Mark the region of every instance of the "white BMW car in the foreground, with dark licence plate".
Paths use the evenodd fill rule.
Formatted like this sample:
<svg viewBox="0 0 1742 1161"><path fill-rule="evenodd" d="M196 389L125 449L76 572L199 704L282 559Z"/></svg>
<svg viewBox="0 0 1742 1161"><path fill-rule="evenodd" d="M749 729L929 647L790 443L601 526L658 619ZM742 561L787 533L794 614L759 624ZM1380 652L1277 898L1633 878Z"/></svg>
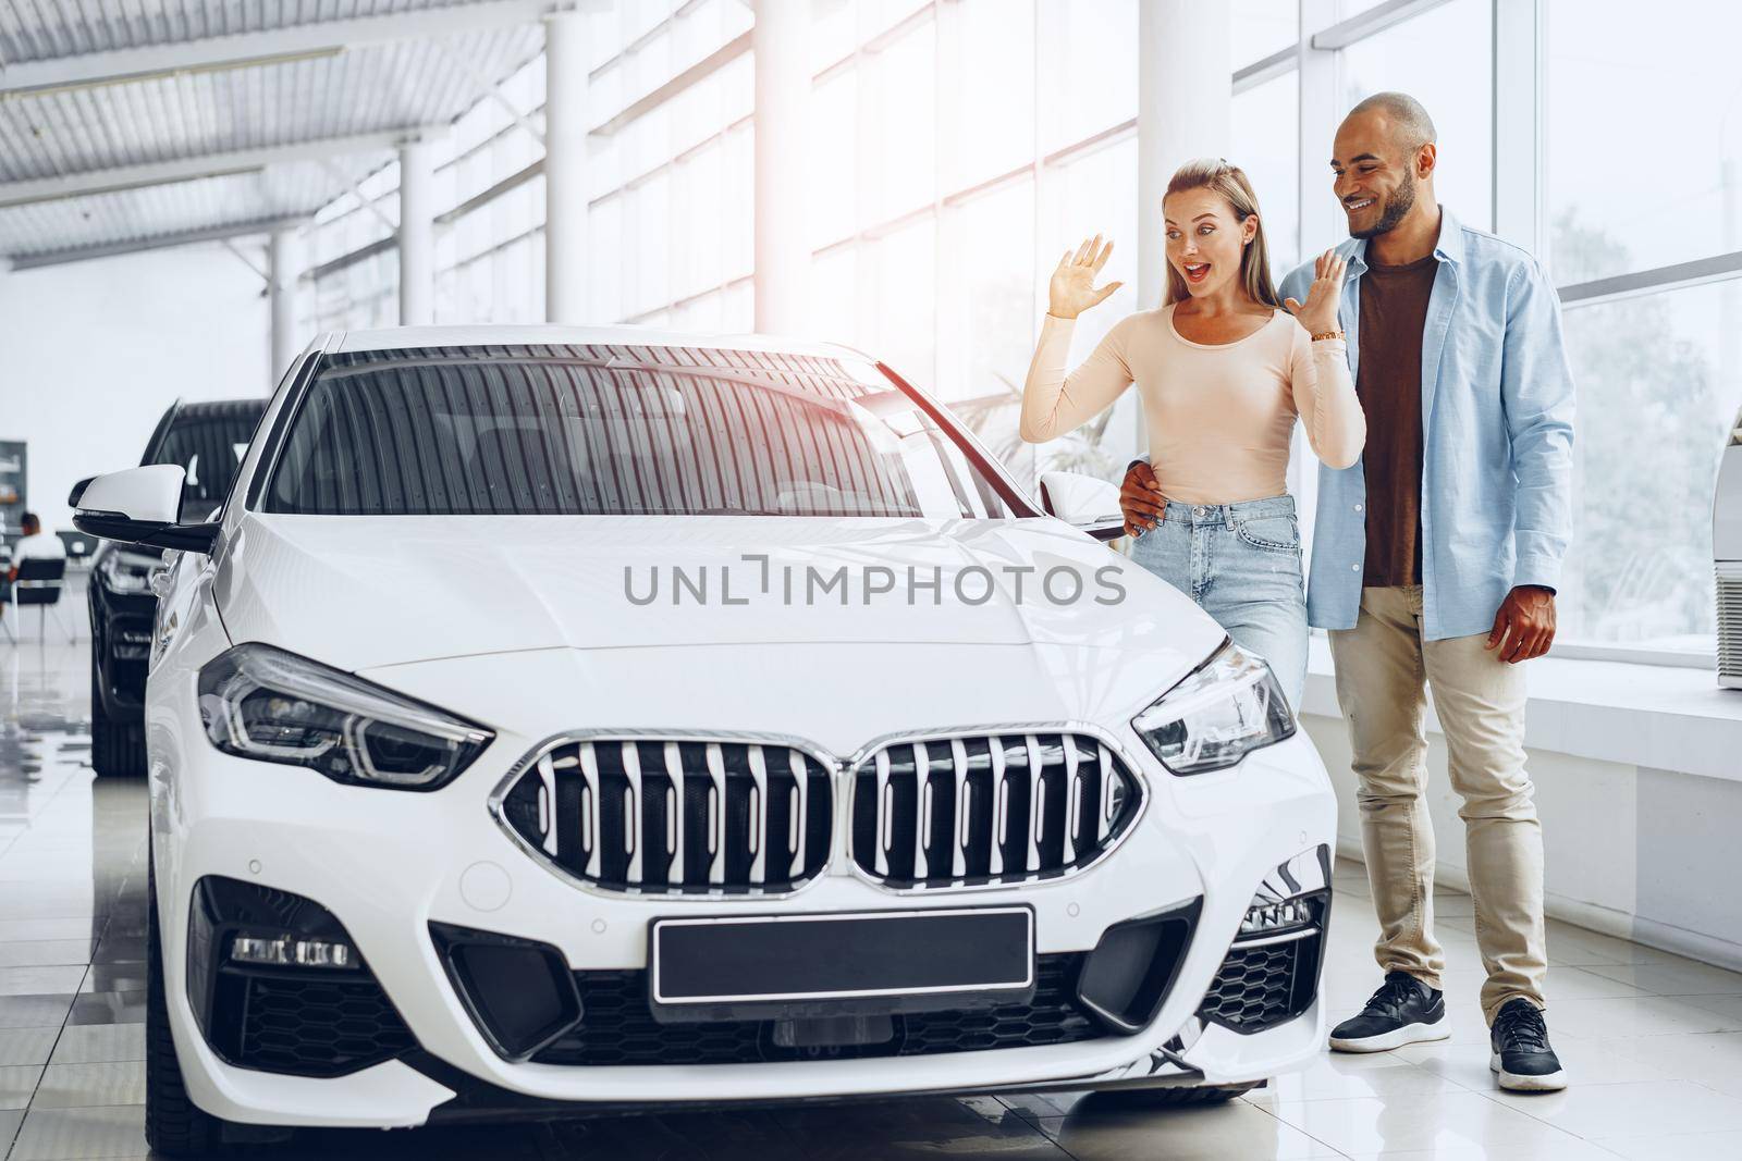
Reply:
<svg viewBox="0 0 1742 1161"><path fill-rule="evenodd" d="M172 548L148 1135L895 1093L1209 1102L1324 1044L1268 667L838 346L327 336Z"/></svg>

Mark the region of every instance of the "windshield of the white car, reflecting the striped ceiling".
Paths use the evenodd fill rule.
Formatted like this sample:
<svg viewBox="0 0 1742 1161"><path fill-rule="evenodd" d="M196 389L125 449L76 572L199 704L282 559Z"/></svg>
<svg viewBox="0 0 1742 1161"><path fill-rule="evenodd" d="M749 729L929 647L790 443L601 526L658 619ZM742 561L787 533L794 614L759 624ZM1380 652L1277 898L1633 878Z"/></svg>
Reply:
<svg viewBox="0 0 1742 1161"><path fill-rule="evenodd" d="M327 357L265 510L1002 517L1000 486L869 364L683 348Z"/></svg>

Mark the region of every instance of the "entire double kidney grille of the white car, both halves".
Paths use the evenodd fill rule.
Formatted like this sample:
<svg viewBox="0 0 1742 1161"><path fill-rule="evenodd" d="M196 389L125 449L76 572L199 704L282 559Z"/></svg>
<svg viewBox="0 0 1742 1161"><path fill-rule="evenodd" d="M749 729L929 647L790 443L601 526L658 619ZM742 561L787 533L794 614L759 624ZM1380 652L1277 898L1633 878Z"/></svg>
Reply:
<svg viewBox="0 0 1742 1161"><path fill-rule="evenodd" d="M1070 876L1143 806L1143 783L1101 738L1012 728L874 743L852 761L796 738L559 738L521 762L491 809L585 886L780 895L829 865L838 780L850 794L841 865L850 856L895 891Z"/></svg>

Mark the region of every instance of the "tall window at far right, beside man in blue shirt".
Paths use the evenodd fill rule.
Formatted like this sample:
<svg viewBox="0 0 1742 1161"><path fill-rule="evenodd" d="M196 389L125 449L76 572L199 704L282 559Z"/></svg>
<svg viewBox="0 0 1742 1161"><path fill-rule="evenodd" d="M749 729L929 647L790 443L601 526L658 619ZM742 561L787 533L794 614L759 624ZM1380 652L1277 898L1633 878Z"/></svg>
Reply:
<svg viewBox="0 0 1742 1161"><path fill-rule="evenodd" d="M1543 242L1580 390L1561 607L1570 641L1707 665L1712 484L1742 386L1742 10L1625 12L1545 3ZM1639 120L1646 91L1678 115Z"/></svg>

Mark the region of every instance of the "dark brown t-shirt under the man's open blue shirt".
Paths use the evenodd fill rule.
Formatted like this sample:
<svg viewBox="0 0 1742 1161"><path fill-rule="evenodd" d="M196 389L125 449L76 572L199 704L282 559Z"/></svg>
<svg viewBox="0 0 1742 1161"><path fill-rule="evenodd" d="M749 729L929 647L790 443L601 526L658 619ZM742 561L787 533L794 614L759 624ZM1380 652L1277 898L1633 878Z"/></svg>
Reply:
<svg viewBox="0 0 1742 1161"><path fill-rule="evenodd" d="M1367 416L1367 560L1362 585L1421 583L1421 332L1439 259L1361 275L1355 393Z"/></svg>

